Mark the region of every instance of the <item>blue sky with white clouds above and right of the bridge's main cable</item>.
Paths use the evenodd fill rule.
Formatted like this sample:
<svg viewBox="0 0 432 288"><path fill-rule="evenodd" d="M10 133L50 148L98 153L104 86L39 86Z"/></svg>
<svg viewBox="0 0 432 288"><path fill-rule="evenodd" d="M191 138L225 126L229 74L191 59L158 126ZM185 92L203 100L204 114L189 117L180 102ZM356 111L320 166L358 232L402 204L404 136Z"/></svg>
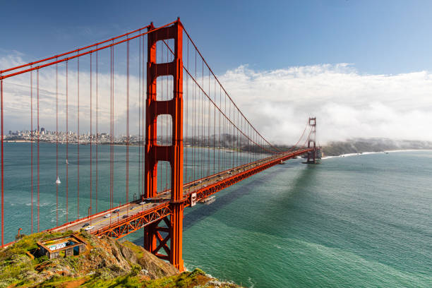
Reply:
<svg viewBox="0 0 432 288"><path fill-rule="evenodd" d="M0 69L180 17L269 140L292 142L308 116L317 116L321 143L432 140L431 8L396 0L3 1Z"/></svg>

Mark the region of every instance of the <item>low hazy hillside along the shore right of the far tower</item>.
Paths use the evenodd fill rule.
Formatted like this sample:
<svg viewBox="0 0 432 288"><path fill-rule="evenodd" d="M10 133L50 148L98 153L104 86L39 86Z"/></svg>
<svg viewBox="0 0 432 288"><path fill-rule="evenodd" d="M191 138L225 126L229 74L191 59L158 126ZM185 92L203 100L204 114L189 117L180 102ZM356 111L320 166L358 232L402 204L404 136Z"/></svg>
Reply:
<svg viewBox="0 0 432 288"><path fill-rule="evenodd" d="M416 140L391 140L388 138L354 138L346 141L330 142L328 145L324 145L323 156L408 149L432 149L432 142Z"/></svg>

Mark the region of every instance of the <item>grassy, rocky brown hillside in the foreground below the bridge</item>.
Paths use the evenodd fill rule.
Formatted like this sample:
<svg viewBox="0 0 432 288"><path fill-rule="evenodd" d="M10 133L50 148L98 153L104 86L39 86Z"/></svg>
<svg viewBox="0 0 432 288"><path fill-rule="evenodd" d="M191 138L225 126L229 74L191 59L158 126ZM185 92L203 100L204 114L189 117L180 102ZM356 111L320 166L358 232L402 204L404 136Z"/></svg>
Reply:
<svg viewBox="0 0 432 288"><path fill-rule="evenodd" d="M0 287L239 287L206 275L202 270L179 273L174 266L145 249L107 236L77 234L85 251L76 256L48 259L37 242L65 233L24 236L0 251Z"/></svg>

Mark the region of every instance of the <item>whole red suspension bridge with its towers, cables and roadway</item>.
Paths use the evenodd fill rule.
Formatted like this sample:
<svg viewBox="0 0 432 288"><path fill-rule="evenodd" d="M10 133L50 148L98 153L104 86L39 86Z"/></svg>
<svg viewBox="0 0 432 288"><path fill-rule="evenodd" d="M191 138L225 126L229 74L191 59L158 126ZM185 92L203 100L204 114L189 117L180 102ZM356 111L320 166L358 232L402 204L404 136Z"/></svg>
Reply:
<svg viewBox="0 0 432 288"><path fill-rule="evenodd" d="M90 222L92 234L119 239L144 228L145 248L179 270L184 208L290 158L315 163L319 150L315 118L290 148L266 140L179 19L4 69L0 81L1 246L5 229L24 225L5 227L5 196L16 193L11 140L28 153L20 198L28 196L29 233ZM6 136L13 125L27 128ZM56 184L47 187L47 174ZM55 217L40 209L47 193Z"/></svg>

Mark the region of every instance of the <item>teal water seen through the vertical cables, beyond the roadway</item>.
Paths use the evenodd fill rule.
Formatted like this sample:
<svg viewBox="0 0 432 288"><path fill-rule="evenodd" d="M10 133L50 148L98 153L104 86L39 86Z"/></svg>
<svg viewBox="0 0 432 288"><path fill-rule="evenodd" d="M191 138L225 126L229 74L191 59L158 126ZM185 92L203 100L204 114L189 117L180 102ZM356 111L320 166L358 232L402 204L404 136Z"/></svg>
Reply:
<svg viewBox="0 0 432 288"><path fill-rule="evenodd" d="M39 173L39 230L56 227L76 220L77 217L88 215L90 208L90 183L92 184L92 211L109 209L110 199L110 161L109 146L99 145L96 169L96 151L92 149L92 179L90 181L90 145L79 145L80 157L78 165L78 145L59 145L58 175L61 184L56 185L56 145L40 143L39 172L37 171L37 144L33 144L33 164L31 167L30 143L4 144L4 243L13 241L22 228L21 233L37 232L37 174ZM258 160L265 155L250 155L248 153L227 153L225 150L210 150L206 148L184 149L184 182L200 179L203 176L223 171L234 165L245 164ZM236 156L236 157L234 157ZM66 158L68 164L66 164ZM143 191L142 164L139 160L142 154L138 146L129 148L129 187L128 200L131 201ZM213 160L216 160L213 162ZM220 159L220 162L217 160ZM203 163L203 164L200 164ZM78 166L79 166L79 196L78 196ZM67 168L67 172L66 172ZM163 191L169 186L169 164L158 164L157 190ZM33 173L33 182L31 178ZM97 172L97 177L96 177ZM66 184L66 174L68 175ZM96 184L97 179L97 184ZM114 146L114 177L113 206L126 203L126 146ZM31 205L31 187L33 186L33 205ZM66 191L67 187L67 191ZM79 198L79 206L78 206ZM97 201L95 200L97 198ZM66 201L67 199L67 201ZM33 206L33 213L31 207ZM33 215L33 225L31 225ZM33 227L33 229L31 229Z"/></svg>

